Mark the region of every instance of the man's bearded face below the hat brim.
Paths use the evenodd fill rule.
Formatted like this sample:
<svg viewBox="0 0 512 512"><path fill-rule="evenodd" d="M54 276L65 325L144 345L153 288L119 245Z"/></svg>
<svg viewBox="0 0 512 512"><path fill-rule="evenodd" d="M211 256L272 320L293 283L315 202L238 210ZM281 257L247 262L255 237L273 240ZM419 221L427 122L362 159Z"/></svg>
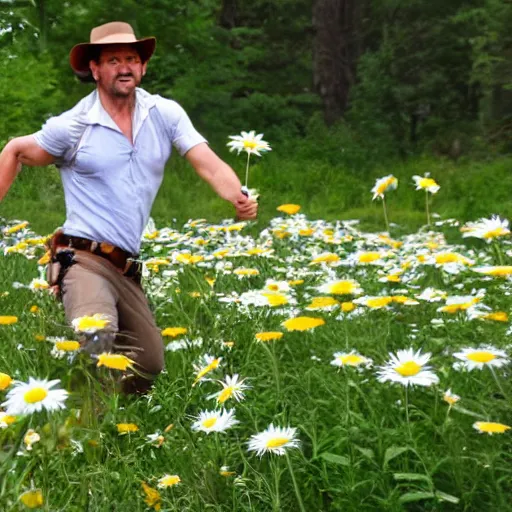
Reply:
<svg viewBox="0 0 512 512"><path fill-rule="evenodd" d="M146 64L129 44L105 46L101 50L99 63L91 60L92 75L107 94L118 98L133 94L146 74Z"/></svg>

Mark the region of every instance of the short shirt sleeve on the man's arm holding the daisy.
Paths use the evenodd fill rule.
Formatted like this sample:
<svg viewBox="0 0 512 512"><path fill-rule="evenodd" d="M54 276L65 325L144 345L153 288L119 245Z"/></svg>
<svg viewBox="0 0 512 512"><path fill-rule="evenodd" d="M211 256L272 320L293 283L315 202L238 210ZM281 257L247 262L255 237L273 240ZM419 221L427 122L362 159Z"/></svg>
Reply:
<svg viewBox="0 0 512 512"><path fill-rule="evenodd" d="M173 146L184 155L197 144L207 140L194 128L192 121L181 105L173 100L161 98L159 111L168 128Z"/></svg>

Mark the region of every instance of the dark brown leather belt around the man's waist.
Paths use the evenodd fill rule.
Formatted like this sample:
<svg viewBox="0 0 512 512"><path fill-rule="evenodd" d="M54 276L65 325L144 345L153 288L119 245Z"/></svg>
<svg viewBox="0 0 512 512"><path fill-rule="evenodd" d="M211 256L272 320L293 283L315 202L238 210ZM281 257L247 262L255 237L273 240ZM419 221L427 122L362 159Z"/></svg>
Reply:
<svg viewBox="0 0 512 512"><path fill-rule="evenodd" d="M50 244L52 255L56 254L57 249L61 249L63 247L91 252L92 254L96 254L97 256L107 259L117 267L122 274L127 277L131 277L140 283L142 263L136 261L138 255L125 251L120 247L116 247L106 242L95 242L88 238L66 235L62 231L57 231L53 235Z"/></svg>

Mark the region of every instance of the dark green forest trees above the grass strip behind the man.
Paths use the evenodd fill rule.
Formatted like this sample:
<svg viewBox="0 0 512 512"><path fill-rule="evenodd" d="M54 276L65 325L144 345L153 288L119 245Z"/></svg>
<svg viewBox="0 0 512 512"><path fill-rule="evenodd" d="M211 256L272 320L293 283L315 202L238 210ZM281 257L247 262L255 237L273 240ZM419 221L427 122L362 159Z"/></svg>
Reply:
<svg viewBox="0 0 512 512"><path fill-rule="evenodd" d="M211 141L348 165L512 146L510 0L0 0L0 141L89 91L69 51L115 19L157 37L143 86Z"/></svg>

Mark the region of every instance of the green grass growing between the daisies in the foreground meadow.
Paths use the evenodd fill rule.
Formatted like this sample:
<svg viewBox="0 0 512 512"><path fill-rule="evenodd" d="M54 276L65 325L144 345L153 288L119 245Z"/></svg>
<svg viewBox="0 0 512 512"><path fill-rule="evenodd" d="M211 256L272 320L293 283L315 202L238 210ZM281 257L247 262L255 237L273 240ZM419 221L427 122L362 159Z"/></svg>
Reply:
<svg viewBox="0 0 512 512"><path fill-rule="evenodd" d="M266 179L270 180L268 174ZM172 187L166 185L164 192L170 191ZM160 196L160 205L163 200ZM196 235L206 236L199 230ZM364 236L356 238L362 243ZM458 235L456 242L460 241ZM205 251L213 252L223 242L222 237L211 237ZM153 247L146 246L146 257L153 254ZM186 247L199 251L197 245L185 242L158 254ZM487 246L479 247L487 253L479 260L491 261ZM0 314L19 317L17 324L0 326L0 372L20 380L59 378L71 391L65 411L36 414L0 430L0 509L21 510L18 496L33 484L43 491L43 509L52 512L146 510L141 481L155 487L157 479L169 473L179 475L181 484L161 490L165 511L299 510L297 491L307 511L512 510L510 432L487 436L472 428L479 419L512 424L510 365L497 370L498 382L488 368L463 373L451 367L452 353L461 347L490 343L506 349L508 324L469 322L460 313L445 316L444 326L436 328L431 320L441 316L436 312L439 304L429 303L396 305L343 320L336 320L337 312L305 311L310 297L318 295L314 286L325 279L324 273L324 277L306 275L305 283L296 288L296 300L301 311L322 317L326 324L309 332L285 332L281 340L261 344L254 340L255 333L284 331L281 322L287 313L223 305L210 293L204 276L216 275L215 292L242 293L261 289L267 278L282 277L276 267L288 267L288 278L298 277L308 268L313 252L334 250L344 257L355 245L289 239L275 240L274 248L275 259L229 260L236 267L257 268L258 276L239 279L199 266L185 267L176 278L167 279L169 287L160 298L151 293L160 284L154 279L146 284L159 327L184 326L190 339L203 339L201 347L166 352L166 372L149 400L105 392L108 370L96 371L85 358L72 364L52 358L52 344L37 341L35 335L75 336L65 326L62 307L44 293L12 287L13 281L28 284L37 276L34 259L0 256ZM397 256L404 258L408 249L401 251ZM285 260L289 257L292 260ZM332 271L358 279L369 294L401 293L398 290L404 287L412 294L427 286L464 294L483 287L487 290L484 302L493 309L510 311L512 306L508 281L486 281L470 270L453 276L418 267L408 271L410 282L398 285L380 283L376 268L342 266ZM201 297L189 295L196 291ZM39 313L30 313L31 305L38 305ZM224 341L235 344L228 348ZM330 365L336 351L357 349L380 365L388 352L409 346L432 353L430 364L440 378L438 387L415 387L406 395L398 384L378 382L374 370L337 371ZM216 382L192 386L193 363L205 353L223 357L215 378L239 373L251 385L246 400L228 402L228 407L235 407L240 424L218 435L191 430L199 411L214 407L207 396L220 390ZM462 396L451 410L440 393L448 388ZM87 409L92 410L89 416ZM120 422L136 423L140 430L119 436L116 423ZM163 432L171 423L174 428L164 434L160 448L146 442L146 435ZM247 452L250 436L270 423L297 428L300 449L288 452L296 487L285 457L259 459ZM11 452L16 452L27 428L39 432L41 441L31 452L15 456ZM83 447L81 453L75 453L77 442ZM236 476L220 476L223 465L230 466Z"/></svg>

